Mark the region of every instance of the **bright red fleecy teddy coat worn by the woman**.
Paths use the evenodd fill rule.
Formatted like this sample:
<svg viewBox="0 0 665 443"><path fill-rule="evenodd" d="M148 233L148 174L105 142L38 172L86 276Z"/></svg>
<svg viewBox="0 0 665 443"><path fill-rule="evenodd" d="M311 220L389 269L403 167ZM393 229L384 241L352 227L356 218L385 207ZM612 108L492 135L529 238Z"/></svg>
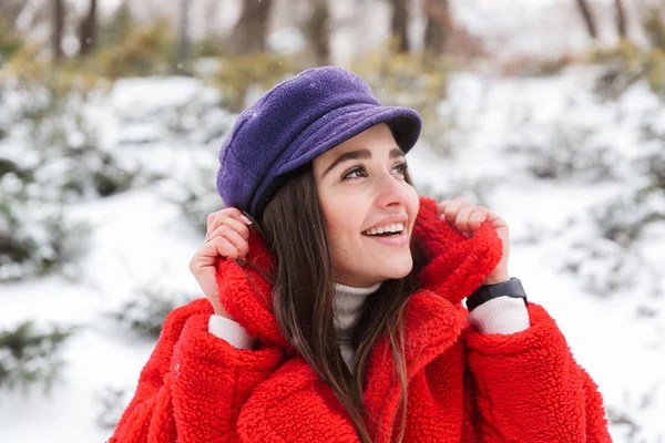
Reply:
<svg viewBox="0 0 665 443"><path fill-rule="evenodd" d="M543 308L530 303L531 327L510 336L468 324L461 300L497 265L501 243L485 225L463 237L436 209L421 198L413 233L431 261L406 310L405 441L610 442L601 394ZM249 254L260 266L272 262L257 236ZM260 347L238 350L208 333L205 299L175 309L110 442L358 442L331 389L289 353L262 296L270 293L268 282L245 270L221 260L219 296ZM380 341L365 391L367 412L378 419L370 423L377 442L396 432L400 384L391 364Z"/></svg>

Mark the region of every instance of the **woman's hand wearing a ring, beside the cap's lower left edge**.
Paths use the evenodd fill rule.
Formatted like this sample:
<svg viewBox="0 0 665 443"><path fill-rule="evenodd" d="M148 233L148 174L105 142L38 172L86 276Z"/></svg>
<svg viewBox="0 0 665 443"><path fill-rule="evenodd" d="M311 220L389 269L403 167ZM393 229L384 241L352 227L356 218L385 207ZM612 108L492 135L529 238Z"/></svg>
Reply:
<svg viewBox="0 0 665 443"><path fill-rule="evenodd" d="M219 288L215 280L217 257L244 259L249 251L252 222L238 209L228 207L207 217L206 240L190 260L190 270L217 316L227 317L219 301Z"/></svg>

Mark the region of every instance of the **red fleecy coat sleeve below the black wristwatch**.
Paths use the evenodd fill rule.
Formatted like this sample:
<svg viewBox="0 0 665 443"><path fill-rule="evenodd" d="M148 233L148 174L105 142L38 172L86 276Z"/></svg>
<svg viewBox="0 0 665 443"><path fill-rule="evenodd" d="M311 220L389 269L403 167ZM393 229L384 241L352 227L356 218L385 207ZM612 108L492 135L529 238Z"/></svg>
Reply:
<svg viewBox="0 0 665 443"><path fill-rule="evenodd" d="M545 310L513 334L464 330L482 442L611 442L603 400Z"/></svg>

